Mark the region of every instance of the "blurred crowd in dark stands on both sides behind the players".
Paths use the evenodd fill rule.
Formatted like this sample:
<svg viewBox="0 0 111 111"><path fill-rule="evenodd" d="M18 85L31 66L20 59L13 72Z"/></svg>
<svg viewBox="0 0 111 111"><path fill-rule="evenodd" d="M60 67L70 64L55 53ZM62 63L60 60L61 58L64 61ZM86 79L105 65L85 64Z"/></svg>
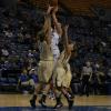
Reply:
<svg viewBox="0 0 111 111"><path fill-rule="evenodd" d="M37 32L42 26L42 17L37 8L24 4L18 6L17 13L0 8L0 78L4 71L19 70L20 90L23 90L21 85L31 85L33 90L38 83ZM111 41L107 34L83 32L75 27L69 30L71 39L77 42L77 51L70 60L73 93L107 94L107 84L111 82ZM90 74L91 78L84 78Z"/></svg>

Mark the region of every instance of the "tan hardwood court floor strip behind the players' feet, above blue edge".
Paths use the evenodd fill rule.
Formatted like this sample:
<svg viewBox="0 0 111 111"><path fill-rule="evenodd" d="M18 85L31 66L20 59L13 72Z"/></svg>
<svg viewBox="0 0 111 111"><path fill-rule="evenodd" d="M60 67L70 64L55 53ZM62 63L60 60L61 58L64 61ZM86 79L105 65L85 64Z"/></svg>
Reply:
<svg viewBox="0 0 111 111"><path fill-rule="evenodd" d="M30 107L30 94L0 94L0 107ZM65 99L62 99L64 105L67 105ZM48 105L54 105L54 101L48 99ZM38 105L38 102L37 102ZM111 95L90 95L74 98L74 105L107 105L111 107Z"/></svg>

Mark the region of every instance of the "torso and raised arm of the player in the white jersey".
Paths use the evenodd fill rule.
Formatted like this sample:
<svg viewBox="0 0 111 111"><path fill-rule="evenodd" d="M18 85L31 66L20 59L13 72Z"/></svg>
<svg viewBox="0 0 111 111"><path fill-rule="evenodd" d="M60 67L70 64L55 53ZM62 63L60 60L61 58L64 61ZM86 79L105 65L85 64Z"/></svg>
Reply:
<svg viewBox="0 0 111 111"><path fill-rule="evenodd" d="M52 10L53 24L51 29L51 37L52 37L51 46L52 46L54 62L58 60L60 56L60 50L59 50L58 44L62 36L61 23L58 21L57 16L56 16L57 12L58 12L58 7L53 8Z"/></svg>

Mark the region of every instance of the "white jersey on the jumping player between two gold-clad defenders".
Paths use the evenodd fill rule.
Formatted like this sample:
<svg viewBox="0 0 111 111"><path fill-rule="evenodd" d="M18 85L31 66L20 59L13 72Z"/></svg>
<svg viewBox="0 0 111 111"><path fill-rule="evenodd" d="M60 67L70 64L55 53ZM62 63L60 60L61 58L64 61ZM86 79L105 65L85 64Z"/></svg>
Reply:
<svg viewBox="0 0 111 111"><path fill-rule="evenodd" d="M57 61L57 59L60 56L60 50L58 47L60 37L56 31L52 31L51 37L52 37L51 40L52 53L53 53L54 61Z"/></svg>

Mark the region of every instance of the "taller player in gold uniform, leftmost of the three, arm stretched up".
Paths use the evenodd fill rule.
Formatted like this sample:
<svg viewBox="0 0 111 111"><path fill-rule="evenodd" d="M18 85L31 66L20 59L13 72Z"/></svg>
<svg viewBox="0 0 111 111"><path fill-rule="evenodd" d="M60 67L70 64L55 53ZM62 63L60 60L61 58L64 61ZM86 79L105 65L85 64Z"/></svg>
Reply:
<svg viewBox="0 0 111 111"><path fill-rule="evenodd" d="M52 77L52 70L53 70L53 54L51 50L51 20L50 20L50 11L52 10L52 7L49 7L46 21L43 26L43 31L41 31L40 34L40 62L38 68L38 78L39 83L37 84L34 94L32 99L30 100L30 104L32 108L36 108L36 100L37 94L42 90L42 98L40 99L39 103L41 103L42 107L46 107L44 100L47 98L47 93L50 89L50 79ZM42 87L44 87L42 89Z"/></svg>

